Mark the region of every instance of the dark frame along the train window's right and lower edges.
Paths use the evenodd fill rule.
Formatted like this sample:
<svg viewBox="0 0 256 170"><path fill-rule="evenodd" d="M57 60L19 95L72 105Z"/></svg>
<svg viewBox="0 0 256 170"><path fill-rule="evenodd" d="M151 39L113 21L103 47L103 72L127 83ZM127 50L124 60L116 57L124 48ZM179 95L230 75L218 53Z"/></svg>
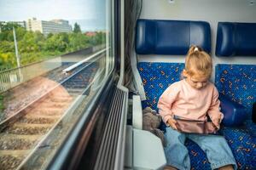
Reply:
<svg viewBox="0 0 256 170"><path fill-rule="evenodd" d="M88 164L92 166L90 168L93 168L93 163L88 161L95 159L97 150L90 150L90 147L87 146L91 143L95 144L95 141L93 141L96 138L95 133L97 133L95 128L96 126L103 127L104 123L101 120L108 116L109 104L113 97L115 84L118 82L116 75L119 72L120 63L120 3L118 0L109 0L109 2L112 3L113 9L111 11L113 20L111 31L113 31L113 35L110 37L114 47L113 69L109 72L105 84L98 90L95 98L84 112L84 115L88 116L81 118L77 125L73 127L71 133L67 135L67 140L61 144L46 169L80 169L81 167L88 168ZM101 135L99 137L101 138ZM98 144L100 144L100 139L95 145ZM88 150L90 151L88 152ZM91 156L87 162L81 161L84 156L87 156L84 154L85 152Z"/></svg>

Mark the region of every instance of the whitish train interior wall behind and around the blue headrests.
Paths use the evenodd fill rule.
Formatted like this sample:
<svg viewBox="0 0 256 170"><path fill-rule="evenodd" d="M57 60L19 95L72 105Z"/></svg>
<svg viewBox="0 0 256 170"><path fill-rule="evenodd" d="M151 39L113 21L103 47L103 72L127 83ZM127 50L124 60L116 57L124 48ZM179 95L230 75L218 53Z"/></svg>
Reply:
<svg viewBox="0 0 256 170"><path fill-rule="evenodd" d="M217 64L256 64L250 56L216 57L216 35L218 22L256 22L255 0L146 0L143 1L140 19L151 20L203 20L211 26L213 68ZM172 40L170 40L172 41ZM139 62L183 63L185 56L138 55ZM214 82L215 71L212 72Z"/></svg>

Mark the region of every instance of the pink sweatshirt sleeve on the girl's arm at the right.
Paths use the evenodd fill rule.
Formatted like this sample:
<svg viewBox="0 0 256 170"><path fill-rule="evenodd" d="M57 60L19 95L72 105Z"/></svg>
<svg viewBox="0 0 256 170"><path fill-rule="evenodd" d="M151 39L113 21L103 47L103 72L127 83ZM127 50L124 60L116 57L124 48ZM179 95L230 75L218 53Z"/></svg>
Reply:
<svg viewBox="0 0 256 170"><path fill-rule="evenodd" d="M211 105L208 112L208 115L210 116L212 122L216 127L219 128L219 123L222 121L224 115L222 112L220 112L220 101L218 99L218 90L216 87L213 88L213 93L212 93L212 101Z"/></svg>

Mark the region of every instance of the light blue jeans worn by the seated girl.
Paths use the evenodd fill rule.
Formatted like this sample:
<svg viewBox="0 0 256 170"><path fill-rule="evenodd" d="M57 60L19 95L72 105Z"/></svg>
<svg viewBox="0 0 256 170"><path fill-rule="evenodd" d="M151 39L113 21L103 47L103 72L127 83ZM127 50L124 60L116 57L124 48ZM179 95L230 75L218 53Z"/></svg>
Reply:
<svg viewBox="0 0 256 170"><path fill-rule="evenodd" d="M193 140L204 150L212 169L226 165L233 165L234 169L237 169L236 160L223 136L179 133L172 127L166 127L165 133L165 153L168 165L180 170L190 170L189 151L184 145L186 138Z"/></svg>

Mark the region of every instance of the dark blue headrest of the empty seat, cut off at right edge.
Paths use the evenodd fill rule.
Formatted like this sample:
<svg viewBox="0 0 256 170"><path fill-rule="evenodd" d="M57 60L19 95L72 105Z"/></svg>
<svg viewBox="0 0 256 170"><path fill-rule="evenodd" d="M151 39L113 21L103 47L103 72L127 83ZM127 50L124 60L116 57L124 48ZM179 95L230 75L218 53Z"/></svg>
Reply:
<svg viewBox="0 0 256 170"><path fill-rule="evenodd" d="M217 56L256 55L256 23L219 22Z"/></svg>

